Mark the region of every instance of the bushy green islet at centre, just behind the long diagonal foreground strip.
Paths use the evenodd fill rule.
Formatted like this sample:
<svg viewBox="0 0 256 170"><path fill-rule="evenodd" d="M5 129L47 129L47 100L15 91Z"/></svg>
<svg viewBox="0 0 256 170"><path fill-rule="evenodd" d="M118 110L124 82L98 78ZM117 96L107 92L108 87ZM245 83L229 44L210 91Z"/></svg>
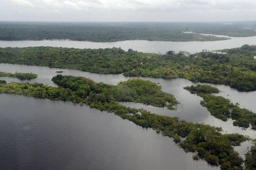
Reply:
<svg viewBox="0 0 256 170"><path fill-rule="evenodd" d="M96 84L90 79L74 76L57 75L52 80L61 87L75 90L82 98L90 99L92 94L97 94L101 102L139 102L169 109L178 104L173 95L161 91L160 85L148 80L129 79L117 86Z"/></svg>

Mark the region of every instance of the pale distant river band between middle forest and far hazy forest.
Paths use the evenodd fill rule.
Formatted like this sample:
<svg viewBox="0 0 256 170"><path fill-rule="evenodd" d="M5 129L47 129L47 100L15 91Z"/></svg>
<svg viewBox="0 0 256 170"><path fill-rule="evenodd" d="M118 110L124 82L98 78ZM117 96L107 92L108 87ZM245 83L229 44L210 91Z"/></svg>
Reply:
<svg viewBox="0 0 256 170"><path fill-rule="evenodd" d="M228 37L219 36L218 37ZM255 45L256 36L251 37L229 37L229 40L223 41L144 41L128 40L118 42L90 42L90 41L67 41L67 40L42 40L42 41L0 41L1 47L33 47L33 46L51 46L51 47L69 47L69 48L112 48L121 47L123 50L132 48L140 52L165 53L169 50L175 52L187 51L190 53L201 52L202 50L221 50L224 48L241 47L244 44Z"/></svg>

